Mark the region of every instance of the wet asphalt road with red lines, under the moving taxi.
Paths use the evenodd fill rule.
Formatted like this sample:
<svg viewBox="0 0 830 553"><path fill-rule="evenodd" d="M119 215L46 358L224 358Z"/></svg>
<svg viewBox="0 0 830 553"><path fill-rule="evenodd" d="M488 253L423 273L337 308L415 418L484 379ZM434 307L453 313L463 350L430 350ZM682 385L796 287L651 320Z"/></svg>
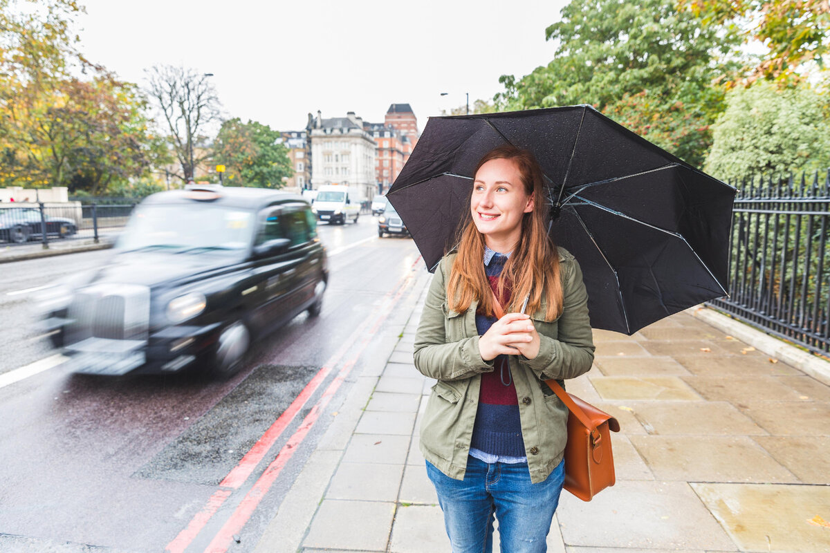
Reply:
<svg viewBox="0 0 830 553"><path fill-rule="evenodd" d="M378 239L372 217L319 229L323 313L257 343L232 381L51 368L0 387L0 551L253 550L362 367L388 357L426 275L412 240ZM105 257L4 265L0 317L29 308L31 294L9 292ZM30 345L0 372L54 354L18 326Z"/></svg>

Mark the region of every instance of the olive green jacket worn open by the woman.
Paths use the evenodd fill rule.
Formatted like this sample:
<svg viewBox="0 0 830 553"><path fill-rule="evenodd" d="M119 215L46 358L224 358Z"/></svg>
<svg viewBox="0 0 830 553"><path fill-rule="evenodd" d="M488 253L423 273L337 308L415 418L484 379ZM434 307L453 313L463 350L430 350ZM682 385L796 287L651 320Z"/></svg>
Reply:
<svg viewBox="0 0 830 553"><path fill-rule="evenodd" d="M464 313L447 308L447 279L455 254L438 264L415 336L415 366L437 380L421 423L424 458L450 478L466 471L472 427L476 420L481 373L494 369L481 359L476 331L477 303ZM562 315L546 320L542 305L531 319L540 335L535 359L510 356L510 371L519 400L522 436L530 480L543 482L562 460L567 441L568 410L541 380L564 381L587 372L593 362L593 339L588 321L588 293L579 264L559 248L559 271L564 290Z"/></svg>

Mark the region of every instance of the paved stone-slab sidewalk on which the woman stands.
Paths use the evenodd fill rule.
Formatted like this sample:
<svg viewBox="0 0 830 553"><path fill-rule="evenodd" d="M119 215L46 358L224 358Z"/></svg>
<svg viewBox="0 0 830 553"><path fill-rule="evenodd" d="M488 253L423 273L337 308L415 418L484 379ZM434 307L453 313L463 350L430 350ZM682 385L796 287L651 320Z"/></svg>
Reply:
<svg viewBox="0 0 830 553"><path fill-rule="evenodd" d="M417 448L433 383L412 361L422 299L257 553L450 551ZM549 551L830 551L830 387L689 313L594 339L568 388L620 421L617 484L588 503L563 492Z"/></svg>

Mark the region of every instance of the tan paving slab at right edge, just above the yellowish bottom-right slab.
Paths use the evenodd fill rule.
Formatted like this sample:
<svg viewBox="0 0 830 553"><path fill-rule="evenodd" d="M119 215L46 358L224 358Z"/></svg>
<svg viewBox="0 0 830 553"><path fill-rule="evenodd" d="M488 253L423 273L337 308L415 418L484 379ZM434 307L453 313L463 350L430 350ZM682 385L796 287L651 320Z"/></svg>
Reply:
<svg viewBox="0 0 830 553"><path fill-rule="evenodd" d="M758 436L753 439L801 482L830 486L830 438L827 436Z"/></svg>

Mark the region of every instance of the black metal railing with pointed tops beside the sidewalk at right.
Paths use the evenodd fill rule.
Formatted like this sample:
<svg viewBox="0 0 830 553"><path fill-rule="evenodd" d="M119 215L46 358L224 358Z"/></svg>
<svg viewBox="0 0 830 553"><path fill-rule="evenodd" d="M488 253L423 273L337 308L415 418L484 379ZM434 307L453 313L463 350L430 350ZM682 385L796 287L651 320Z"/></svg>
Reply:
<svg viewBox="0 0 830 553"><path fill-rule="evenodd" d="M738 188L730 297L711 302L812 352L830 352L830 172L760 178Z"/></svg>

